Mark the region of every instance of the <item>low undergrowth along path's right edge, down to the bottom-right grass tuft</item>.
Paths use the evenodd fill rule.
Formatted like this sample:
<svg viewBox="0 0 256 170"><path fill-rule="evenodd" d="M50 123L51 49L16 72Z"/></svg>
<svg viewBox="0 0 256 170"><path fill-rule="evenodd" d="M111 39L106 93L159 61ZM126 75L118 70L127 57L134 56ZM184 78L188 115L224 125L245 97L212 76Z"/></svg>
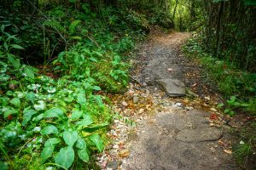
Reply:
<svg viewBox="0 0 256 170"><path fill-rule="evenodd" d="M236 133L240 142L233 148L233 156L241 167L250 167L253 165L256 152L256 74L242 71L227 60L220 60L207 54L199 42L196 37L192 37L183 47L183 52L203 65L209 77L218 85L219 92L226 99L224 104L218 106L229 116L246 114L252 117Z"/></svg>

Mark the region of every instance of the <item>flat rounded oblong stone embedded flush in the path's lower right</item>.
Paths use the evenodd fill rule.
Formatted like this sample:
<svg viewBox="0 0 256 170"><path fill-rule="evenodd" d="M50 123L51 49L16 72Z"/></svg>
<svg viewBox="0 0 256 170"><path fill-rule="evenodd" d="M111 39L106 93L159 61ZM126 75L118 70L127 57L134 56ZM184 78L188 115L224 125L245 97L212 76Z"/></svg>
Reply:
<svg viewBox="0 0 256 170"><path fill-rule="evenodd" d="M177 133L175 139L183 142L214 141L220 139L222 134L216 127L183 129Z"/></svg>

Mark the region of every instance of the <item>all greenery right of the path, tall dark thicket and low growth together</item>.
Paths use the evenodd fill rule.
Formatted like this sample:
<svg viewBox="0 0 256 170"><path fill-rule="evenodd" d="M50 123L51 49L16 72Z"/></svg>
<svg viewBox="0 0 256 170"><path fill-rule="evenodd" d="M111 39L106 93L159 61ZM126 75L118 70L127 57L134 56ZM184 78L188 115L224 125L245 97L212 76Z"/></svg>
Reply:
<svg viewBox="0 0 256 170"><path fill-rule="evenodd" d="M256 2L250 0L190 1L194 36L185 54L204 65L226 100L219 107L227 116L243 115L243 127L233 156L243 168L255 168L256 150ZM238 121L239 118L237 118ZM254 154L253 154L254 153Z"/></svg>

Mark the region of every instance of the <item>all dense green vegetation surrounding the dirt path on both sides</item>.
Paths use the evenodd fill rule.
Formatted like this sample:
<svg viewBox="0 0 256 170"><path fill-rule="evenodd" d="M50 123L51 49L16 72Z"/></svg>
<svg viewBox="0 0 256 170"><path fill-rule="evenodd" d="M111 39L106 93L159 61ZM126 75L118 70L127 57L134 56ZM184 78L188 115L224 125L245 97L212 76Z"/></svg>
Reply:
<svg viewBox="0 0 256 170"><path fill-rule="evenodd" d="M0 0L0 168L93 168L131 50L150 25L193 31L184 51L207 65L230 116L256 113L253 0ZM250 124L255 129L255 122ZM252 130L250 130L251 132ZM255 134L236 145L241 163Z"/></svg>

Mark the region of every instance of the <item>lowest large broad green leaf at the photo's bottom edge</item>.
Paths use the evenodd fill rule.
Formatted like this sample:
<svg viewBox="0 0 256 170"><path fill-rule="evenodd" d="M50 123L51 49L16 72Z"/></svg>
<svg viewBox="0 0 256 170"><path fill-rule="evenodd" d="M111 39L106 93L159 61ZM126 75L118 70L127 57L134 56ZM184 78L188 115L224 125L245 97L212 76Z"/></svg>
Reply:
<svg viewBox="0 0 256 170"><path fill-rule="evenodd" d="M74 160L74 151L71 146L61 148L60 152L55 156L55 163L62 167L71 167Z"/></svg>

